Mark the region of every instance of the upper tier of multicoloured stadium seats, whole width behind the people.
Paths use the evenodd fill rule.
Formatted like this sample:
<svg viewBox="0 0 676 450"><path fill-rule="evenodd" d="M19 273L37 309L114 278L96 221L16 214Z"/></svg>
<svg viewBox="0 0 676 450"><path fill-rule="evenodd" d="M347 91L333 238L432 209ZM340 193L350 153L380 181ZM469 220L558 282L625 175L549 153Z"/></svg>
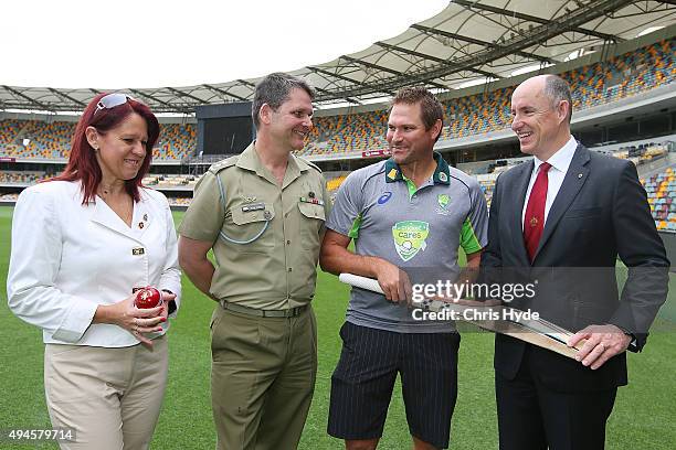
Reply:
<svg viewBox="0 0 676 450"><path fill-rule="evenodd" d="M611 57L561 74L573 93L574 110L611 104L619 99L670 84L676 40ZM446 126L442 139L458 139L507 128L511 117L514 87L443 101ZM323 116L315 119L305 157L359 154L387 149L387 109L371 113ZM6 119L0 121L0 157L17 159L67 158L75 124ZM152 150L159 161L182 160L197 148L193 124L162 124L160 141Z"/></svg>

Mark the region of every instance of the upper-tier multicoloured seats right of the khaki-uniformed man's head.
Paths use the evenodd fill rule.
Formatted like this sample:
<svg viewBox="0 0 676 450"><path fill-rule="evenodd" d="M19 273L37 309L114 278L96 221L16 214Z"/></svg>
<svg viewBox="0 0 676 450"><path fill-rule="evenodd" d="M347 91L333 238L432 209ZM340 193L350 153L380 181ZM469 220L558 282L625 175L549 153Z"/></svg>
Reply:
<svg viewBox="0 0 676 450"><path fill-rule="evenodd" d="M561 74L571 85L573 110L610 104L674 82L676 40L670 39L602 63ZM458 139L508 128L514 87L444 100L441 139ZM387 149L387 110L325 116L315 121L303 156Z"/></svg>

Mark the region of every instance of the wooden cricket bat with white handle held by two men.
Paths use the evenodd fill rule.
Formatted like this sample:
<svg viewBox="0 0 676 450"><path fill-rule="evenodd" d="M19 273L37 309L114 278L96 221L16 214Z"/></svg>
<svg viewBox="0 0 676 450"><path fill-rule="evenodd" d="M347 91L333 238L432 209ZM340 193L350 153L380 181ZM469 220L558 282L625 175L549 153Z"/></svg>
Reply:
<svg viewBox="0 0 676 450"><path fill-rule="evenodd" d="M338 279L356 288L383 293L378 280L372 278L340 274ZM574 333L545 319L536 319L526 311L505 306L485 306L480 301L473 300L430 299L414 303L414 307L436 312L437 315L443 313L445 317L452 317L452 320L461 320L484 330L506 334L570 358L574 358L578 350L584 344L584 341L580 341L575 347L570 347L566 342Z"/></svg>

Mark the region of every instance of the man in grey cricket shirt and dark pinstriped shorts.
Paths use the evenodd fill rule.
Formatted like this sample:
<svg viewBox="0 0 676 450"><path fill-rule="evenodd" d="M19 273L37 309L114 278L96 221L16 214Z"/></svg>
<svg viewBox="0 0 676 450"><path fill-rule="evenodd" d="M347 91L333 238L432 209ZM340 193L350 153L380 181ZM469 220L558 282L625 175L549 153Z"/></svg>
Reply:
<svg viewBox="0 0 676 450"><path fill-rule="evenodd" d="M340 330L328 432L348 449L378 446L398 373L414 448L448 446L460 335L447 322L414 320L404 270L457 277L461 246L467 265L478 267L487 207L476 180L433 151L442 126L442 106L429 90L400 90L388 120L392 157L352 172L327 221L321 267L377 278L384 291L353 288Z"/></svg>

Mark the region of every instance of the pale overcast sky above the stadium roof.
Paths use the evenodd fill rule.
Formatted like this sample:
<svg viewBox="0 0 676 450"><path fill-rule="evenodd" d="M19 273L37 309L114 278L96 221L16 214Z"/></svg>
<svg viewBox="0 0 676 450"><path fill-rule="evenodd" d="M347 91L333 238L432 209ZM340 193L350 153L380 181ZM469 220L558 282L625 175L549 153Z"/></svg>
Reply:
<svg viewBox="0 0 676 450"><path fill-rule="evenodd" d="M12 0L0 84L161 87L326 63L393 38L447 0Z"/></svg>

